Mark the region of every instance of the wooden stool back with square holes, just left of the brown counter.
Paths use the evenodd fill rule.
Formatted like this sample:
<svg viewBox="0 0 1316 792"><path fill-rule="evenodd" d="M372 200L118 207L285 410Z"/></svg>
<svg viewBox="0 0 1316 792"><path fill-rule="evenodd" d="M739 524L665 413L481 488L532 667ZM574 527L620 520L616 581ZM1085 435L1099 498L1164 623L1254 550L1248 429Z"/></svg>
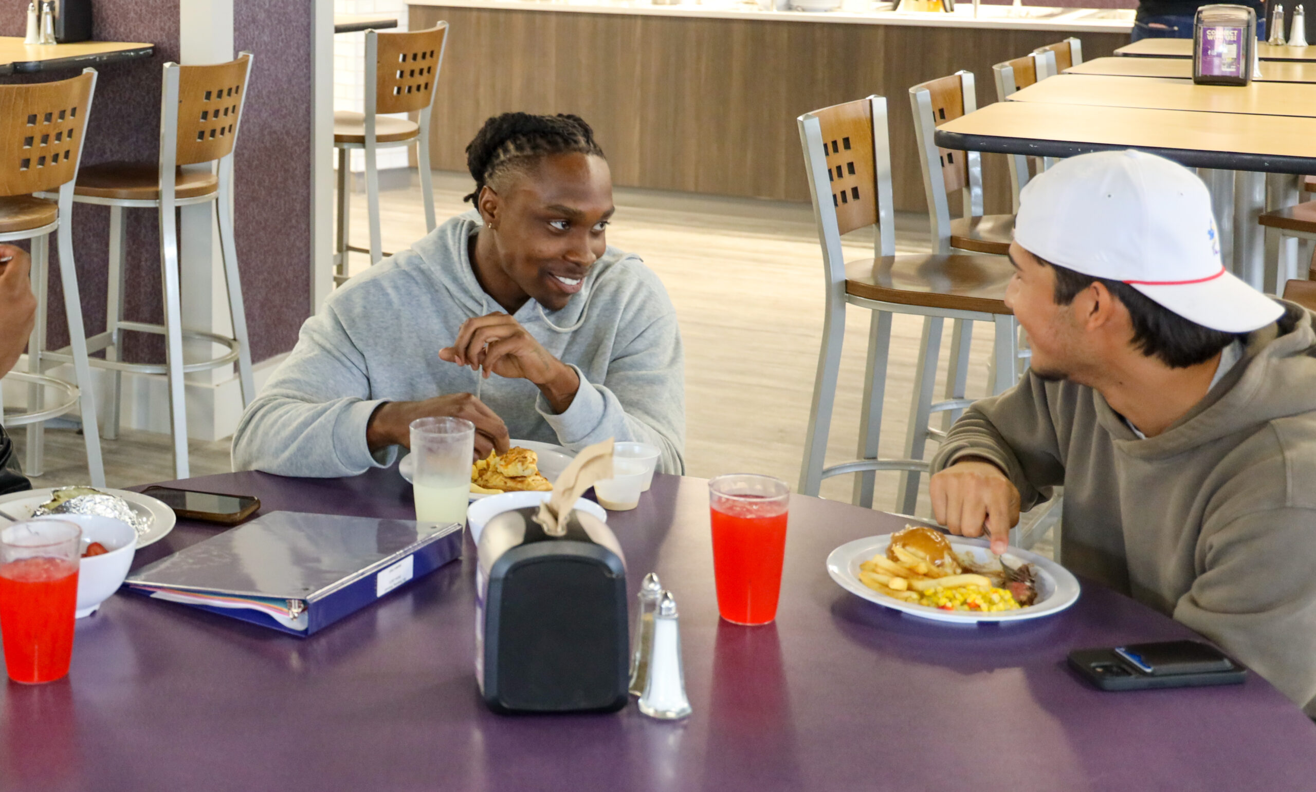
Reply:
<svg viewBox="0 0 1316 792"><path fill-rule="evenodd" d="M443 62L447 22L428 30L366 33L366 58L375 49L375 112L409 113L429 107Z"/></svg>

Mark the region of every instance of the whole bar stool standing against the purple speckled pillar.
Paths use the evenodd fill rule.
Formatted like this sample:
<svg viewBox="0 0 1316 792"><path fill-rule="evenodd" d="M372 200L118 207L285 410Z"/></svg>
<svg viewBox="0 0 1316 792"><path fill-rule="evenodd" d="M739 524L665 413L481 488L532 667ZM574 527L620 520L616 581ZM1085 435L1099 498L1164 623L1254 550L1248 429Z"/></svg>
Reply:
<svg viewBox="0 0 1316 792"><path fill-rule="evenodd" d="M233 237L233 145L237 142L246 100L251 53L236 61L209 66L164 64L161 104L161 153L158 162L105 162L87 166L78 175L72 200L109 207L109 291L105 332L88 338L91 351L105 350L105 359L92 364L108 368L113 384L105 399L105 435L118 432L122 372L163 374L168 379L170 424L174 442L174 475L190 476L187 457L187 401L184 374L209 371L237 362L242 404L255 399L251 347L247 343L246 312L238 279L237 243ZM183 171L182 166L215 163L211 170ZM233 338L183 329L179 287L178 222L175 209L215 201L220 253L229 293ZM164 324L151 325L124 318L124 209L149 208L159 214L161 270L164 287ZM64 268L61 267L61 271ZM164 363L120 360L124 330L164 335ZM193 338L225 347L217 358L187 363L183 339ZM54 357L54 359L59 359Z"/></svg>

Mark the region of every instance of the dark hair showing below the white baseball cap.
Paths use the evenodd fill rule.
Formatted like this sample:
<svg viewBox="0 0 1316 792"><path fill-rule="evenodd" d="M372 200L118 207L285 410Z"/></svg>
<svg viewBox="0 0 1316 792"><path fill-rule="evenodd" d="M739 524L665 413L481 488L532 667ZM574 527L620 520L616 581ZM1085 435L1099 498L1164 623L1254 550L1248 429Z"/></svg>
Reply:
<svg viewBox="0 0 1316 792"><path fill-rule="evenodd" d="M1129 310L1129 318L1133 321L1133 346L1149 358L1159 358L1170 368L1205 363L1224 347L1248 337L1246 333L1224 333L1203 328L1121 280L1092 278L1042 258L1037 260L1055 271L1057 305L1069 305L1079 292L1094 283L1103 284Z"/></svg>

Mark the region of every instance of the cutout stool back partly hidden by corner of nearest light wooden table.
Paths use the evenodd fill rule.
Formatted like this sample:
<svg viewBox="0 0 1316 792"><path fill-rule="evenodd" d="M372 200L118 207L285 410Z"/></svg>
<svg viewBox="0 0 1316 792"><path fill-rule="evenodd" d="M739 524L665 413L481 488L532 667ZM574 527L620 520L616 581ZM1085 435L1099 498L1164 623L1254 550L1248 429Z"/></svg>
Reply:
<svg viewBox="0 0 1316 792"><path fill-rule="evenodd" d="M959 151L937 146L937 128L978 109L971 71L920 83L909 88L913 130L919 141L919 163L923 187L932 220L936 253L950 250L950 204L948 195L963 191L965 217L983 213L982 166L976 151Z"/></svg>

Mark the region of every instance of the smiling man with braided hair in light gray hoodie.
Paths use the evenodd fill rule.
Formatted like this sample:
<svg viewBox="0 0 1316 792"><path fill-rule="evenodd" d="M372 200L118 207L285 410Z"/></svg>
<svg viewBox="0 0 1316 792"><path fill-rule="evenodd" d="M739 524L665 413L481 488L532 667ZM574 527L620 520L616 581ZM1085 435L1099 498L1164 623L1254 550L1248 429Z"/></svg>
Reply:
<svg viewBox="0 0 1316 792"><path fill-rule="evenodd" d="M475 424L571 450L661 449L683 472L684 360L658 278L605 243L612 178L575 116L504 113L466 149L475 212L353 278L301 326L233 437L233 468L350 476L392 464L408 425Z"/></svg>

